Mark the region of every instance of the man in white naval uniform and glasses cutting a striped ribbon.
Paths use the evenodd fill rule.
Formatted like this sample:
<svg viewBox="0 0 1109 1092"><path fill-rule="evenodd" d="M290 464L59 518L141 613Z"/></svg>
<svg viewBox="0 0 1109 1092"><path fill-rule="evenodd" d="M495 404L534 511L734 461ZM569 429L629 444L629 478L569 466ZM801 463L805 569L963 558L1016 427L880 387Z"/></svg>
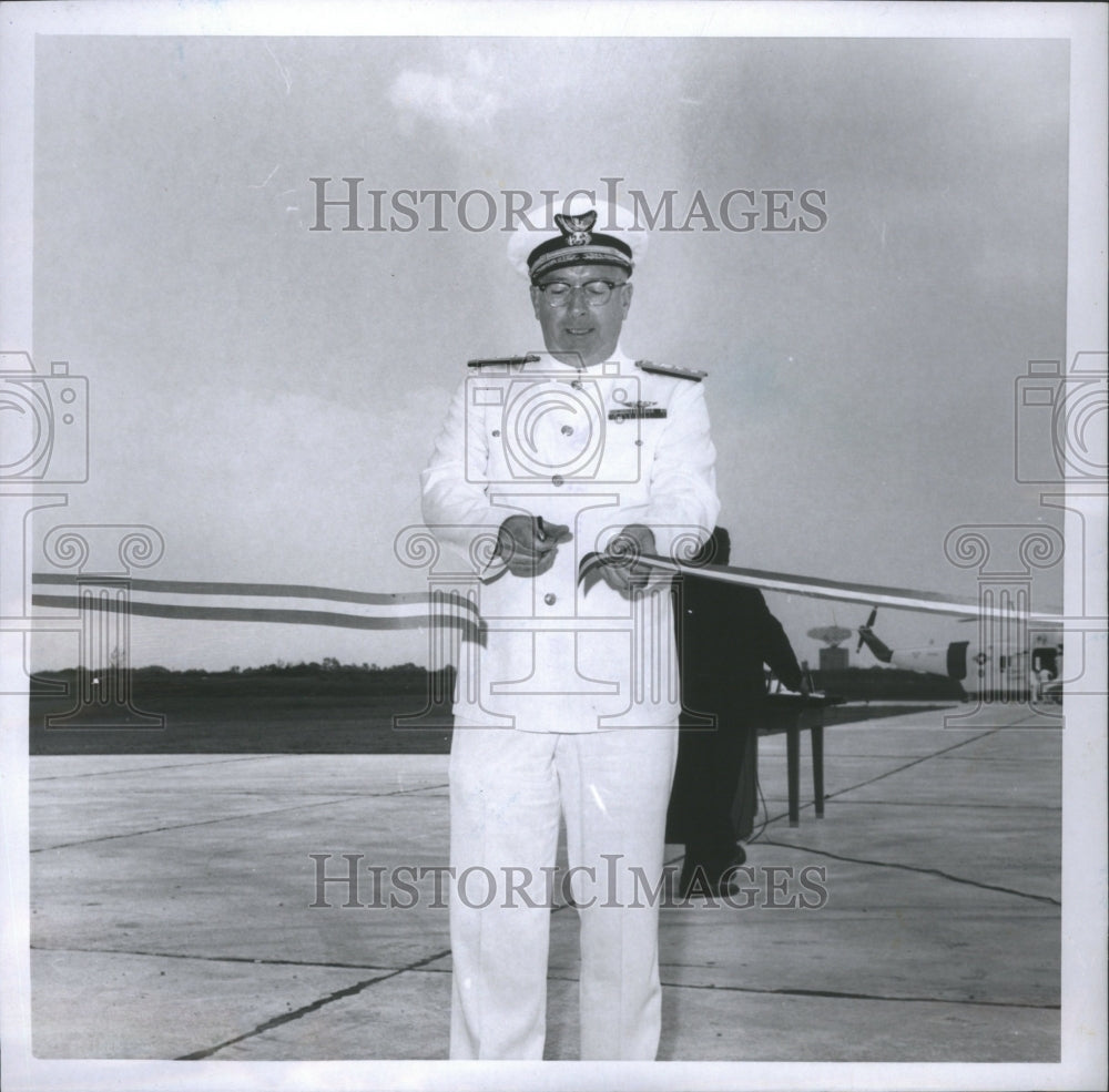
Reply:
<svg viewBox="0 0 1109 1092"><path fill-rule="evenodd" d="M546 353L471 361L423 476L471 560L450 757L450 1054L539 1059L564 818L581 922L581 1057L653 1059L658 902L680 706L669 580L719 510L700 372L620 331L645 233L600 205L518 232Z"/></svg>

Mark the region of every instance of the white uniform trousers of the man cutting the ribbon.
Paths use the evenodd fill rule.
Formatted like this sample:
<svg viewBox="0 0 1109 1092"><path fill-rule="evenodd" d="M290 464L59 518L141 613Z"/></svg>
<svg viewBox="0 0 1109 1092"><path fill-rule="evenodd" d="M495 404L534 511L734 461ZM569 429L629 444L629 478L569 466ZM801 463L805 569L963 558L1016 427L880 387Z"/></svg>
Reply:
<svg viewBox="0 0 1109 1092"><path fill-rule="evenodd" d="M581 1058L654 1059L659 892L676 754L675 726L541 734L456 722L452 1059L543 1055L560 813L578 869Z"/></svg>

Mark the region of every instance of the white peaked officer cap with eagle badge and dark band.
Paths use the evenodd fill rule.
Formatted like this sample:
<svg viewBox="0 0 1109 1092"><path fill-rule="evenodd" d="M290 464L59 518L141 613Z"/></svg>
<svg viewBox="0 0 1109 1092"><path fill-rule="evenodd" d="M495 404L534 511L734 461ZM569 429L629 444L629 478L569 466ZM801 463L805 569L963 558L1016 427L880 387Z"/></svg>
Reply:
<svg viewBox="0 0 1109 1092"><path fill-rule="evenodd" d="M508 241L509 262L532 282L573 265L611 265L630 275L647 253L647 228L623 205L590 201L579 192L543 213L541 221L530 217L540 227L521 224Z"/></svg>

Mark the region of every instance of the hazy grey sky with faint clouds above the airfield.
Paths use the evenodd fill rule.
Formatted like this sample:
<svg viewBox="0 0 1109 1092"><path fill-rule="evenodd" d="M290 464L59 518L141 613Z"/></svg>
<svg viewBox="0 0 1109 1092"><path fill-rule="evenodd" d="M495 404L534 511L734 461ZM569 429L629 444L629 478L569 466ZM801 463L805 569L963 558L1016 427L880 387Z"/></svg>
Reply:
<svg viewBox="0 0 1109 1092"><path fill-rule="evenodd" d="M143 524L164 553L135 575L420 590L394 543L466 360L539 329L502 232L431 231L427 205L411 231L344 232L342 210L312 231L313 177L500 208L815 191L818 231L764 231L764 208L750 232L654 232L623 348L709 372L734 564L974 599L953 529L1057 524L1016 480L1015 392L1066 353L1068 78L1061 39L41 37L33 356L88 377L90 455L35 558L59 523ZM1036 574L1034 609L1061 578ZM812 660L807 630L867 613L769 602ZM877 631L957 625L889 611ZM35 641L34 666L75 662L72 634ZM427 650L136 619L131 661Z"/></svg>

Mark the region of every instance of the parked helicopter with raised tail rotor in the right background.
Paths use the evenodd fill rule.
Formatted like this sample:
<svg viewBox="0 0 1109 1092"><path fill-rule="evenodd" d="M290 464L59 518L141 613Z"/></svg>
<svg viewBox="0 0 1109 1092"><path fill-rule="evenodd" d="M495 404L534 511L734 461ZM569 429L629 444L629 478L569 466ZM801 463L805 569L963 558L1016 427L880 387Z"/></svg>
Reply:
<svg viewBox="0 0 1109 1092"><path fill-rule="evenodd" d="M865 625L858 627L858 644L882 663L907 671L926 672L955 680L967 697L980 695L1000 701L1007 698L1037 702L1062 701L1062 630L1030 630L1024 647L1013 647L1004 641L996 644L967 637L945 644L928 644L914 649L891 649L874 632L878 609L871 610ZM963 624L977 619L962 619ZM1004 631L1003 631L1004 632Z"/></svg>

